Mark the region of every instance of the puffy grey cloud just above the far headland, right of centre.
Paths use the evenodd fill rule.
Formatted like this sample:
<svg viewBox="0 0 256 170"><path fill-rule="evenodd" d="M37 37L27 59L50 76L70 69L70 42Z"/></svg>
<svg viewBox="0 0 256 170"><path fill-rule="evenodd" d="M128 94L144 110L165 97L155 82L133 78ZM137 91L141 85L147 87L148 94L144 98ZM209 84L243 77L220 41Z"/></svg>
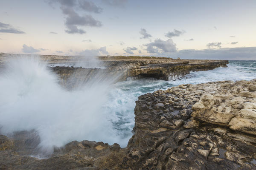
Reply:
<svg viewBox="0 0 256 170"><path fill-rule="evenodd" d="M163 41L161 39L154 40L154 42L150 42L145 44L147 47L148 53L167 53L167 52L176 52L176 44L173 43L172 39L168 39Z"/></svg>

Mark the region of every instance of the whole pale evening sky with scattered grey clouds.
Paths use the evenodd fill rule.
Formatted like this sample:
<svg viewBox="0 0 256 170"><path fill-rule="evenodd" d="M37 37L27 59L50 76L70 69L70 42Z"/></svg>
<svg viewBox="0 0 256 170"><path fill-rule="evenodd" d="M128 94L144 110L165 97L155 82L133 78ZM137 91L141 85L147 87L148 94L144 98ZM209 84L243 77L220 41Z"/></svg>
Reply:
<svg viewBox="0 0 256 170"><path fill-rule="evenodd" d="M256 0L0 0L0 52L255 59Z"/></svg>

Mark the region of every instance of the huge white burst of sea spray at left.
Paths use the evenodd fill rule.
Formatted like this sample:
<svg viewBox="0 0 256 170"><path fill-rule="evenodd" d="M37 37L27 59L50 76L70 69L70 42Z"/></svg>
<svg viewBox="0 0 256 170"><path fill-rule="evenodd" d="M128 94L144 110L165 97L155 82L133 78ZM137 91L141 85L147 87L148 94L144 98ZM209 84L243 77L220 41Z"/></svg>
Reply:
<svg viewBox="0 0 256 170"><path fill-rule="evenodd" d="M95 77L67 91L39 57L10 59L0 73L0 132L35 130L46 154L73 140L113 144L116 134L102 107L113 79Z"/></svg>

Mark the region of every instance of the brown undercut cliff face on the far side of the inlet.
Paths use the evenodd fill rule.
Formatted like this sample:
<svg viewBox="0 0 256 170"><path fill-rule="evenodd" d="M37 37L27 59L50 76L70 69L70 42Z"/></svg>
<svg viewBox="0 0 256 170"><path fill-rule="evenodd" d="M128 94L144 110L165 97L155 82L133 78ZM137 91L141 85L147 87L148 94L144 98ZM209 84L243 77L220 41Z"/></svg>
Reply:
<svg viewBox="0 0 256 170"><path fill-rule="evenodd" d="M83 82L99 74L104 77L115 77L116 81L127 79L155 78L174 80L189 74L190 71L205 71L218 67L227 67L227 60L173 60L173 59L134 59L106 60L101 62L105 68L52 67L63 84Z"/></svg>

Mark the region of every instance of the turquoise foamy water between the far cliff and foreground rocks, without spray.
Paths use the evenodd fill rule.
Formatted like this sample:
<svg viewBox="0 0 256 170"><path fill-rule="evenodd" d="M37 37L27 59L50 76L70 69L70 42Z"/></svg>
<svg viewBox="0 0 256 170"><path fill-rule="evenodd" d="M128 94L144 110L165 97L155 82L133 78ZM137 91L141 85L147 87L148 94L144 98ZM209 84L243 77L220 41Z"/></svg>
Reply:
<svg viewBox="0 0 256 170"><path fill-rule="evenodd" d="M181 84L256 79L256 61L229 61L227 66L227 68L191 72L175 81L142 79L116 83L111 90L108 103L105 105L105 114L113 124L113 133L116 135L117 143L125 147L132 136L135 101L140 95L159 89L166 90Z"/></svg>

